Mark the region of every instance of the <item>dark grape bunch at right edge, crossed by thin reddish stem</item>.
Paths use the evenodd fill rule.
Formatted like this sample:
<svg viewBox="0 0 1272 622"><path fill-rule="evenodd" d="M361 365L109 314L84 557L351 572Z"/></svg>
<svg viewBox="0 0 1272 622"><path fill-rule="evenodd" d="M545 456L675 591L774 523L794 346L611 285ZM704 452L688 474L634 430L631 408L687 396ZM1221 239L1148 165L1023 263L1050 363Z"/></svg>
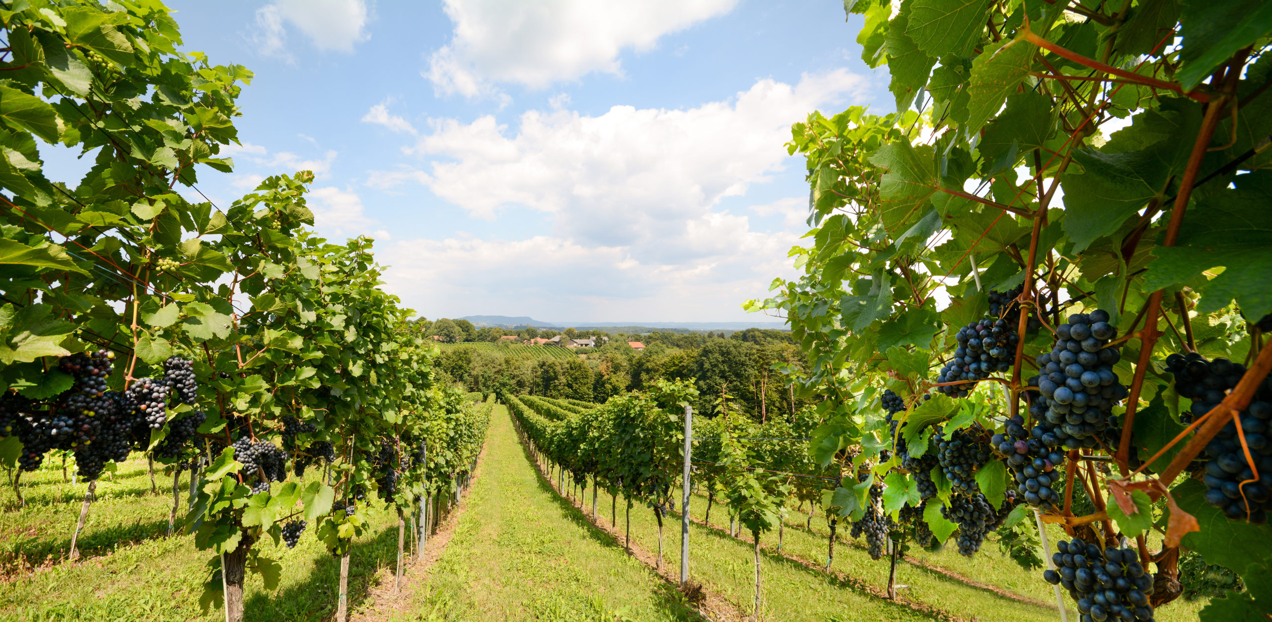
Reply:
<svg viewBox="0 0 1272 622"><path fill-rule="evenodd" d="M1263 379L1238 420L1258 477L1245 459L1236 425L1229 421L1206 445L1206 502L1229 519L1263 524L1272 511L1272 377Z"/></svg>

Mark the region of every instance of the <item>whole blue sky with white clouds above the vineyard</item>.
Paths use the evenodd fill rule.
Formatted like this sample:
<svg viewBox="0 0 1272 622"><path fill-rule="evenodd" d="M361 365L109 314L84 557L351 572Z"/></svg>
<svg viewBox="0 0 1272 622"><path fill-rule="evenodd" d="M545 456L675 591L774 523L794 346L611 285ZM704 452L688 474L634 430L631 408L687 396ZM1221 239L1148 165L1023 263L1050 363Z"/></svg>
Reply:
<svg viewBox="0 0 1272 622"><path fill-rule="evenodd" d="M318 228L373 235L430 318L771 319L739 304L794 275L790 125L893 107L836 0L169 4L256 73L201 190L313 169Z"/></svg>

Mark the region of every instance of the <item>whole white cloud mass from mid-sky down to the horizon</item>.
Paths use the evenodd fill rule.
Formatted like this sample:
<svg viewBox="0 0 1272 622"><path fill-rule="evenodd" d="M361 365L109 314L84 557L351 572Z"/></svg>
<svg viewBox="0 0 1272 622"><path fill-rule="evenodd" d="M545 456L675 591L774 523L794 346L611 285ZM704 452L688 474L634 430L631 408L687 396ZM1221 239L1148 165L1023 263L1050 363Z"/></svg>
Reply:
<svg viewBox="0 0 1272 622"><path fill-rule="evenodd" d="M380 251L388 286L427 317L569 319L560 317L567 308L595 321L748 319L743 300L763 296L775 276L795 276L786 252L806 230L808 198L738 212L721 201L794 162L784 146L792 122L838 109L866 86L840 70L794 86L759 80L731 100L684 111L532 111L515 128L494 117L431 120L410 149L431 168L377 172L369 184L422 183L485 219L532 210L552 232L401 240ZM781 219L770 225L773 215Z"/></svg>

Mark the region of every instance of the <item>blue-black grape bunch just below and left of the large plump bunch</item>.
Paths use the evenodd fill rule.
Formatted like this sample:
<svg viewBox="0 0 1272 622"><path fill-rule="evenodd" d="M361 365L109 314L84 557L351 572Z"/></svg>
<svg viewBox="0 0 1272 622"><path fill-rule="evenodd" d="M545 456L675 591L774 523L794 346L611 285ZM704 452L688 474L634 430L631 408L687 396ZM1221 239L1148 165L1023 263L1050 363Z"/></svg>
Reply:
<svg viewBox="0 0 1272 622"><path fill-rule="evenodd" d="M1054 469L1063 464L1065 453L1057 448L1060 440L1054 434L1042 426L1034 426L1027 434L1024 424L1024 417L1014 416L1007 422L1006 432L995 434L990 444L1006 457L1016 490L1027 504L1034 508L1054 505L1060 497L1052 485L1061 477Z"/></svg>

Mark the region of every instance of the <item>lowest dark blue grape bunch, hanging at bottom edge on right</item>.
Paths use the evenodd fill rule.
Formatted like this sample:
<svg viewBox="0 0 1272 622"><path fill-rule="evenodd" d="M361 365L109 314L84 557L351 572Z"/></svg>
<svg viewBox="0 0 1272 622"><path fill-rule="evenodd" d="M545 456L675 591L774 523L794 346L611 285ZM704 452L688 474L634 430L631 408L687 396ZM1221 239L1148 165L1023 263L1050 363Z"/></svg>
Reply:
<svg viewBox="0 0 1272 622"><path fill-rule="evenodd" d="M1042 576L1052 585L1062 585L1077 602L1084 621L1123 619L1150 622L1152 575L1144 570L1133 548L1105 548L1081 538L1056 543L1052 561L1057 570Z"/></svg>

